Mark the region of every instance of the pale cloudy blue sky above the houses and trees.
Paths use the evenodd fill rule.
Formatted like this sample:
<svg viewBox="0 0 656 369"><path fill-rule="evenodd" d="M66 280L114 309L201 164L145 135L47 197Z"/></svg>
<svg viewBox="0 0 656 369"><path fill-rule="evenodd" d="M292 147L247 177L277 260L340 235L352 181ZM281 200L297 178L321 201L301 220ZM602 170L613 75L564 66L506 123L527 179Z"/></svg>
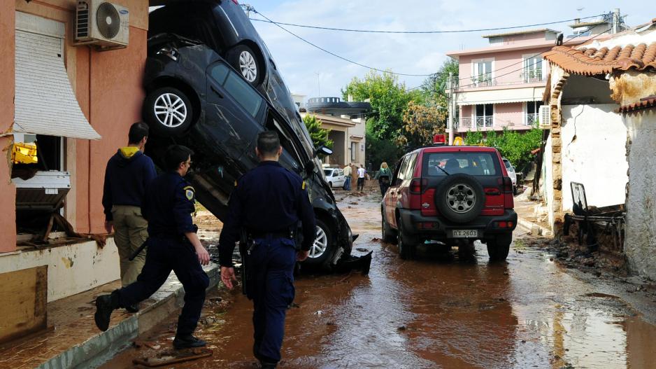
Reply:
<svg viewBox="0 0 656 369"><path fill-rule="evenodd" d="M428 0L241 0L276 22L348 29L424 31L481 29L531 25L571 20L607 13L620 8L629 26L656 18L647 3L640 1L556 0L556 1L428 1ZM252 18L263 19L259 15ZM352 77L362 78L369 69L324 53L304 43L276 25L253 22L271 50L290 91L316 97L341 97ZM571 34L559 23L532 28L551 28ZM445 60L445 53L462 48L484 47L483 34L371 34L334 32L283 26L322 48L360 64L392 69L402 74L430 74ZM408 88L421 85L425 77L399 76ZM306 97L306 98L307 98Z"/></svg>

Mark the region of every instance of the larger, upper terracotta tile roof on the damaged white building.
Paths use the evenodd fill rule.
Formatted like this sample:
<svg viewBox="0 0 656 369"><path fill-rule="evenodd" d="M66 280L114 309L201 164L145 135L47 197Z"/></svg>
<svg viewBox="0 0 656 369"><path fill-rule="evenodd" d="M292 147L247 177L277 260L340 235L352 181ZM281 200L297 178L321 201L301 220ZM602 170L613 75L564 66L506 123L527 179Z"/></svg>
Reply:
<svg viewBox="0 0 656 369"><path fill-rule="evenodd" d="M594 76L608 74L615 70L656 69L656 42L638 46L627 45L623 48L615 46L610 50L600 48L572 48L570 46L555 46L544 58L571 74Z"/></svg>

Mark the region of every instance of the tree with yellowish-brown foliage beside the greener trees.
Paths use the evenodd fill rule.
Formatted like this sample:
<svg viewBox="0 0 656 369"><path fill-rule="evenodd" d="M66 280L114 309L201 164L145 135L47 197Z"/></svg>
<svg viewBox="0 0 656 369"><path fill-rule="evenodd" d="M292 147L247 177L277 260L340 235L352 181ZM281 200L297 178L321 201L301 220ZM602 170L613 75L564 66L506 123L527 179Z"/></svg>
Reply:
<svg viewBox="0 0 656 369"><path fill-rule="evenodd" d="M403 129L397 143L408 148L431 144L433 135L445 132L446 111L437 106L408 102L403 116Z"/></svg>

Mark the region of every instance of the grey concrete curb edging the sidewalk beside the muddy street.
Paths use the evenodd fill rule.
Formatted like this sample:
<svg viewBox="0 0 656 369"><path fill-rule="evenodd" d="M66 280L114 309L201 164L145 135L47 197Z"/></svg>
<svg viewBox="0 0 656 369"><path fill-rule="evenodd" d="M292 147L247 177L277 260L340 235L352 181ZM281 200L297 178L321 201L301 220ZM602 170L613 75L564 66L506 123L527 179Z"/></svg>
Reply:
<svg viewBox="0 0 656 369"><path fill-rule="evenodd" d="M210 285L207 288L207 291L210 291L221 280L220 268L218 264L211 263L203 269L210 278ZM175 283L171 286L168 283L170 281ZM38 368L97 368L127 347L135 337L153 328L182 307L184 296L185 290L182 284L178 282L175 274L171 273L167 283L150 297L157 300L155 303L120 321L105 332L100 332L89 340L50 358Z"/></svg>

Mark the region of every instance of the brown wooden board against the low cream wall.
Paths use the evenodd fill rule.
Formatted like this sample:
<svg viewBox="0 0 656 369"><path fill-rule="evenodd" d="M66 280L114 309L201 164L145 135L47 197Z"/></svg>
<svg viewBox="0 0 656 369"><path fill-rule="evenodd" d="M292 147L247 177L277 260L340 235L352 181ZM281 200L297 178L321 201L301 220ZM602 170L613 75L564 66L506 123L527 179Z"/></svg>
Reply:
<svg viewBox="0 0 656 369"><path fill-rule="evenodd" d="M0 274L0 342L44 330L48 265Z"/></svg>

